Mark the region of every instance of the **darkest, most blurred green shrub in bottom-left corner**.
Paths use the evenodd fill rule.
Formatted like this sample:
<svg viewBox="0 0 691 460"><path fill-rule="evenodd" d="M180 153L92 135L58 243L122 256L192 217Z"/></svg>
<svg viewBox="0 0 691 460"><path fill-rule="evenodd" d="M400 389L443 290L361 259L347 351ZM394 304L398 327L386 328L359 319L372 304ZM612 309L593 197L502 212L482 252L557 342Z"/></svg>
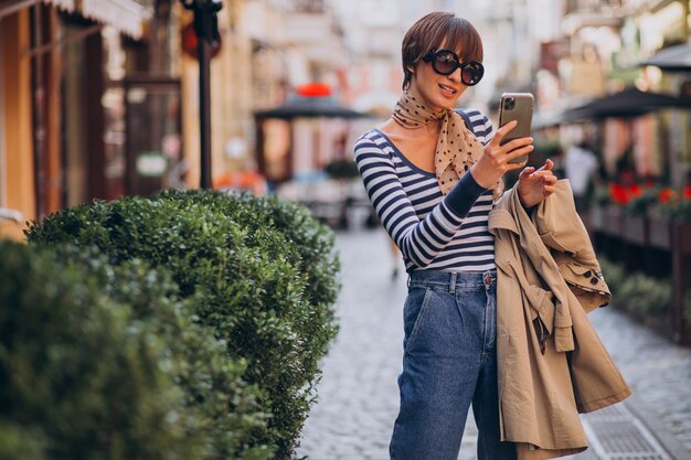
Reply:
<svg viewBox="0 0 691 460"><path fill-rule="evenodd" d="M167 343L52 257L0 243L0 457L200 458Z"/></svg>

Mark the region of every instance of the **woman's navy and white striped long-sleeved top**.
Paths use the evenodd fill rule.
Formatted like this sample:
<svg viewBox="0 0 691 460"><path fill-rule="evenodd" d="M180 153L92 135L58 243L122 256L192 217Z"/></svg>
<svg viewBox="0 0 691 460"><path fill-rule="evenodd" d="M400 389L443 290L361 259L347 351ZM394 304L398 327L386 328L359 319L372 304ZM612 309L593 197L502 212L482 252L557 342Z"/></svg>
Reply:
<svg viewBox="0 0 691 460"><path fill-rule="evenodd" d="M475 136L493 136L489 118L461 109ZM406 270L485 271L495 268L495 238L488 231L491 190L464 174L442 194L434 172L413 164L379 129L358 139L355 163L374 211L405 260Z"/></svg>

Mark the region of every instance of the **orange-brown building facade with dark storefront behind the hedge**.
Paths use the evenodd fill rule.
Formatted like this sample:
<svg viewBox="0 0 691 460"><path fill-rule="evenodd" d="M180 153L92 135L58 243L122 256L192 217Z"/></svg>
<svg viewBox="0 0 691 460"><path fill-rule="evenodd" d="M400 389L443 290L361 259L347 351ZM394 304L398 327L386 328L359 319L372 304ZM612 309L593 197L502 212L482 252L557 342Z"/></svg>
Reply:
<svg viewBox="0 0 691 460"><path fill-rule="evenodd" d="M174 11L169 1L3 2L0 207L23 218L2 221L0 236L150 186L136 153L152 137L180 137ZM163 87L166 100L151 96Z"/></svg>

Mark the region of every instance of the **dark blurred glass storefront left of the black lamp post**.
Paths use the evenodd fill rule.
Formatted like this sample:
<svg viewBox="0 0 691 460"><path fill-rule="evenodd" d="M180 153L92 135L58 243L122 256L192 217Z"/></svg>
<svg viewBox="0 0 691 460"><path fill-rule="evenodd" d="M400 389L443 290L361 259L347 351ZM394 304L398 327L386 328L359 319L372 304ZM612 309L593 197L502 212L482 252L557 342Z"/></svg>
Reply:
<svg viewBox="0 0 691 460"><path fill-rule="evenodd" d="M163 3L157 13L162 25L151 22L149 42L104 26L64 47L66 206L179 186L180 82L167 76L172 21ZM68 34L89 21L64 15L63 22Z"/></svg>

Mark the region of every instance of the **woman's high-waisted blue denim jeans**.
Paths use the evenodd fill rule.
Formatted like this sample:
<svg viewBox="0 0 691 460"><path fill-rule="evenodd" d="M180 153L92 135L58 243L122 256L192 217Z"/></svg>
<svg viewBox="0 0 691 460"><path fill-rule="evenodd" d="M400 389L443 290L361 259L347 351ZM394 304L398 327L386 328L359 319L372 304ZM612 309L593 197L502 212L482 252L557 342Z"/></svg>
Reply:
<svg viewBox="0 0 691 460"><path fill-rule="evenodd" d="M496 280L495 271L412 272L392 460L456 460L470 404L478 460L515 458L515 445L499 441Z"/></svg>

